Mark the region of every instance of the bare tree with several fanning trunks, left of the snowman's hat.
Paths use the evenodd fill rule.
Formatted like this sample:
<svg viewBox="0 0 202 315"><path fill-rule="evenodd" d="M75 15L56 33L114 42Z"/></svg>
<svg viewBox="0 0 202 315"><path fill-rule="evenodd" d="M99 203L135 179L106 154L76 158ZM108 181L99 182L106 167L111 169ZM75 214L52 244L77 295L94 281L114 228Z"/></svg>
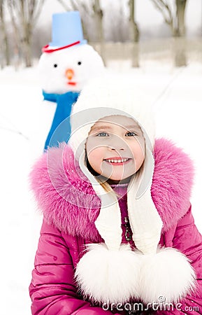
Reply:
<svg viewBox="0 0 202 315"><path fill-rule="evenodd" d="M22 55L26 66L31 66L31 43L34 27L45 0L8 0L8 10L15 34L15 49Z"/></svg>

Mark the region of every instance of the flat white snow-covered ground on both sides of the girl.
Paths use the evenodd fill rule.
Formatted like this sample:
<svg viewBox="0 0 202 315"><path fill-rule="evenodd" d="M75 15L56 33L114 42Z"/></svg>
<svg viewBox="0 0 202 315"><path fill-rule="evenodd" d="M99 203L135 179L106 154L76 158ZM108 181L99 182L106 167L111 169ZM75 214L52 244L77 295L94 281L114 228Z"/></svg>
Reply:
<svg viewBox="0 0 202 315"><path fill-rule="evenodd" d="M140 69L111 64L134 85L156 93L157 137L173 139L194 160L192 206L202 232L201 83L202 64L187 68L147 62ZM43 144L54 105L43 104L36 68L0 71L1 139L1 314L30 315L28 286L41 226L29 192L28 174ZM2 217L1 217L2 218Z"/></svg>

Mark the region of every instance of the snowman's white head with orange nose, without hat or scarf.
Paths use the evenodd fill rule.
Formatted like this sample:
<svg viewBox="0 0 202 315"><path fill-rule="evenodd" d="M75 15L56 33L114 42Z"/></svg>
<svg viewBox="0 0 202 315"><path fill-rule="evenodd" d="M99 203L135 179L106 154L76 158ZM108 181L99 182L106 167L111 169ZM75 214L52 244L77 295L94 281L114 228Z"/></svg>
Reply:
<svg viewBox="0 0 202 315"><path fill-rule="evenodd" d="M77 45L55 52L43 52L39 60L42 89L63 94L80 91L91 78L104 69L103 61L90 45Z"/></svg>

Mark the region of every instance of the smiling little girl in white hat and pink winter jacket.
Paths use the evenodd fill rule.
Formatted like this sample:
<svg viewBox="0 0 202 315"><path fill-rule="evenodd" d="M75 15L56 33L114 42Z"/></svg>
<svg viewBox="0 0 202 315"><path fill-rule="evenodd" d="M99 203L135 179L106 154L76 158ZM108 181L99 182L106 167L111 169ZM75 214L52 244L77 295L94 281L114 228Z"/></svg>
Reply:
<svg viewBox="0 0 202 315"><path fill-rule="evenodd" d="M149 104L145 91L94 80L73 108L69 144L36 162L44 219L32 314L202 314L192 162L154 141Z"/></svg>

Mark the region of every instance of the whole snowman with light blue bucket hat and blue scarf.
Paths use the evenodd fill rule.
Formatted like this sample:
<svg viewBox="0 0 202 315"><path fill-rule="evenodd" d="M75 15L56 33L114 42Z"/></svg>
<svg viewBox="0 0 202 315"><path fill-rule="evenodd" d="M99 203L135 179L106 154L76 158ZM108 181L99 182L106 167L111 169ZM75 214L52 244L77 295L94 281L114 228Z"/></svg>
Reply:
<svg viewBox="0 0 202 315"><path fill-rule="evenodd" d="M68 142L72 106L87 80L100 76L104 66L98 52L83 39L78 11L52 15L52 42L42 51L39 70L43 97L56 104L46 150L59 142Z"/></svg>

